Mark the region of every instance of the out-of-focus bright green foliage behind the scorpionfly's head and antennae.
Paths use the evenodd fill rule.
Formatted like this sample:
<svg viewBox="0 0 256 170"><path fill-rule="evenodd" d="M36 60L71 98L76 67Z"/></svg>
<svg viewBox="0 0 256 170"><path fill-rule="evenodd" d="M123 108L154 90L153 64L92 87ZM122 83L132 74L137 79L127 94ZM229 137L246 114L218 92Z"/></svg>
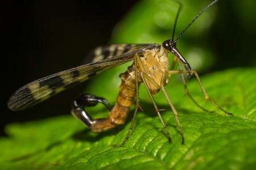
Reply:
<svg viewBox="0 0 256 170"><path fill-rule="evenodd" d="M210 2L182 1L182 11L178 18L174 40ZM213 65L213 56L216 56L214 51L211 51L208 34L215 20L216 7L205 11L177 42L177 47L183 56L186 56L187 61L198 71ZM116 25L111 42L162 44L163 41L172 38L178 8L179 3L175 1L139 1Z"/></svg>

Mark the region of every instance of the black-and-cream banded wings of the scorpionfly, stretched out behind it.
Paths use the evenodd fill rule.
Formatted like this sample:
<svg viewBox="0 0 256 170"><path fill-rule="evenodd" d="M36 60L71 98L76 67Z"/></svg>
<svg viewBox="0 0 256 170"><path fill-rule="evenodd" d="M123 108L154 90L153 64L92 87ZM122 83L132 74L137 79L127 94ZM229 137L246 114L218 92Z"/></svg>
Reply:
<svg viewBox="0 0 256 170"><path fill-rule="evenodd" d="M155 49L159 46L157 44L112 44L96 48L91 53L93 62L46 76L23 86L10 97L7 105L12 111L31 107L103 71L133 60L135 53L141 54L146 49Z"/></svg>

